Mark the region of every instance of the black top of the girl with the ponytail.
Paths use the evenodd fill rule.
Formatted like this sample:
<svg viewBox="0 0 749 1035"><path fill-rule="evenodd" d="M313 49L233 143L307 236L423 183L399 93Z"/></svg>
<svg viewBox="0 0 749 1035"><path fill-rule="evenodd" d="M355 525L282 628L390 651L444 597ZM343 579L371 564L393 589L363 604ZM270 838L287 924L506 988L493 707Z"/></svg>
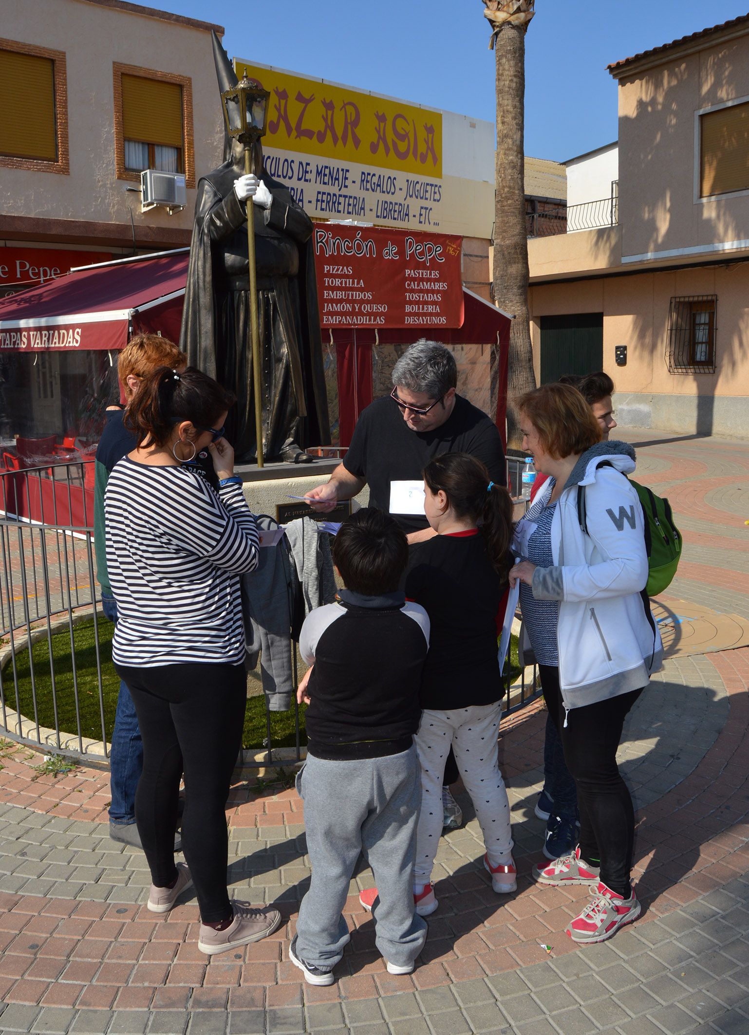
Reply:
<svg viewBox="0 0 749 1035"><path fill-rule="evenodd" d="M478 531L435 535L409 548L406 597L421 603L431 625L422 708L450 711L499 701L497 614L507 585Z"/></svg>

